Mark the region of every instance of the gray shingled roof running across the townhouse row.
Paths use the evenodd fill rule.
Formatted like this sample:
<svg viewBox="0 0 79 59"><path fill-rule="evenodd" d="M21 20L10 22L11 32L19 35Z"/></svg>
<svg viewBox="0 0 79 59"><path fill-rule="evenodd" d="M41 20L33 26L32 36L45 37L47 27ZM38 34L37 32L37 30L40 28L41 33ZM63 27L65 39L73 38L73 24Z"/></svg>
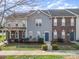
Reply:
<svg viewBox="0 0 79 59"><path fill-rule="evenodd" d="M29 12L25 12L25 13L18 13L18 12L15 12L11 15L9 15L8 17L25 17L25 16L30 16L32 14L34 14L35 12L37 11L40 11L44 14L46 14L47 16L75 16L74 14L66 11L66 10L69 10L73 13L76 13L79 15L79 9L53 9L53 10L31 10Z"/></svg>

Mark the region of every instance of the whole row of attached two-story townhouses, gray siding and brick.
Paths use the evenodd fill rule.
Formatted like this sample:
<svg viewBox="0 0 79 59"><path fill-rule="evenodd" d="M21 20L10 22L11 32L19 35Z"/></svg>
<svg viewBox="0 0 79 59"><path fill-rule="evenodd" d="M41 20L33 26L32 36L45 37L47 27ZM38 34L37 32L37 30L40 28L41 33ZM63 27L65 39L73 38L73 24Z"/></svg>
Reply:
<svg viewBox="0 0 79 59"><path fill-rule="evenodd" d="M64 41L79 40L79 9L31 10L15 12L5 17L6 39L22 39L44 42L61 38Z"/></svg>

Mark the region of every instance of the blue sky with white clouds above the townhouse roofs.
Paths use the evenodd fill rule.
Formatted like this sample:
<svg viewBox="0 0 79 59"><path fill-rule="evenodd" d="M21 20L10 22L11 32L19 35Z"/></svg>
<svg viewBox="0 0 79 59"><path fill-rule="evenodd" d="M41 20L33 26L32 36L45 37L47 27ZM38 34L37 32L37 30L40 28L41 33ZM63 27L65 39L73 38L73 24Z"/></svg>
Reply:
<svg viewBox="0 0 79 59"><path fill-rule="evenodd" d="M11 7L14 2L19 0L6 0L7 8ZM21 0L20 0L21 1ZM71 9L71 8L79 8L79 0L23 0L28 3L25 5L20 5L13 8L16 11L26 11L26 10L47 10L47 9ZM30 4L27 5L27 4Z"/></svg>

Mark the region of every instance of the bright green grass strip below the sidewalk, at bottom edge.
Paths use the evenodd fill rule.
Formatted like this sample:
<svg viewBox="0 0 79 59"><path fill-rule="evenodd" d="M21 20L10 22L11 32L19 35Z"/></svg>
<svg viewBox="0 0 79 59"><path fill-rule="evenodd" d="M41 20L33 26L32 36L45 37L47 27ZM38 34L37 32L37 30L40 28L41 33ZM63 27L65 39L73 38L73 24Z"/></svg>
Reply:
<svg viewBox="0 0 79 59"><path fill-rule="evenodd" d="M6 56L6 59L64 59L64 56L60 55Z"/></svg>

